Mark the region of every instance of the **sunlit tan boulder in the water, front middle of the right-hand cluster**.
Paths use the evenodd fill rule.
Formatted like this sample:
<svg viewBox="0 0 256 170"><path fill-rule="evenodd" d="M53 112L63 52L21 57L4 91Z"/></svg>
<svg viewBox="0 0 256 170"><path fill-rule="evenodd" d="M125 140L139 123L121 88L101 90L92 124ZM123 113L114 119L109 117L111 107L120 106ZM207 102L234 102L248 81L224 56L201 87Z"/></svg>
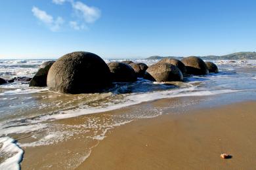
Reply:
<svg viewBox="0 0 256 170"><path fill-rule="evenodd" d="M146 70L144 78L157 82L182 81L183 76L178 67L170 63L156 63Z"/></svg>

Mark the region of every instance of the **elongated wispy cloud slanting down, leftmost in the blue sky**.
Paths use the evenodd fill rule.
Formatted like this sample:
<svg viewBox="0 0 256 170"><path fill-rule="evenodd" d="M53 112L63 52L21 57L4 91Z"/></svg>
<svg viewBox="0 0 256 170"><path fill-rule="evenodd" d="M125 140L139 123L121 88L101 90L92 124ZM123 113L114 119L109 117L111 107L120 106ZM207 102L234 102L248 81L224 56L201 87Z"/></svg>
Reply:
<svg viewBox="0 0 256 170"><path fill-rule="evenodd" d="M33 15L39 19L41 22L47 25L51 29L51 31L58 31L60 26L64 24L63 18L58 16L56 20L54 20L53 16L47 14L44 10L40 10L37 7L32 8Z"/></svg>

